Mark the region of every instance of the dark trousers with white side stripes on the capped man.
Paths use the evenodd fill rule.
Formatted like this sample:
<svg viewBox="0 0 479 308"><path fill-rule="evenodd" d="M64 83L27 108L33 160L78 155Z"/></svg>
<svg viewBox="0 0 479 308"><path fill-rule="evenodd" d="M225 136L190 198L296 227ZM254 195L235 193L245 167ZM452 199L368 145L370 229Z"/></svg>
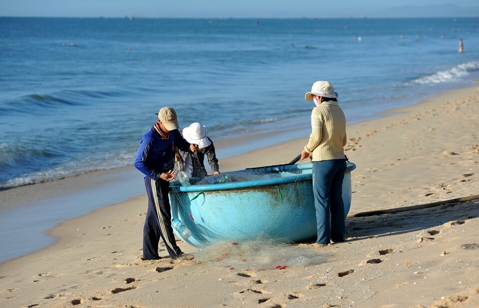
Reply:
<svg viewBox="0 0 479 308"><path fill-rule="evenodd" d="M143 227L143 259L157 260L160 238L165 243L166 250L172 259L178 259L183 252L176 245L175 234L171 226L171 207L168 199L168 181L155 181L145 177L146 193L148 195L148 211Z"/></svg>

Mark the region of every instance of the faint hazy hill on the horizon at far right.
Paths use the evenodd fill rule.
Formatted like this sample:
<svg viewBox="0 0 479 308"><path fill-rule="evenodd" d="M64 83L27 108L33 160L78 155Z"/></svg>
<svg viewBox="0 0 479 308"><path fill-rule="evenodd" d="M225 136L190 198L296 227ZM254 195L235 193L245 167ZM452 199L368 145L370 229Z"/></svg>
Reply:
<svg viewBox="0 0 479 308"><path fill-rule="evenodd" d="M365 17L479 17L479 6L403 5L374 11Z"/></svg>

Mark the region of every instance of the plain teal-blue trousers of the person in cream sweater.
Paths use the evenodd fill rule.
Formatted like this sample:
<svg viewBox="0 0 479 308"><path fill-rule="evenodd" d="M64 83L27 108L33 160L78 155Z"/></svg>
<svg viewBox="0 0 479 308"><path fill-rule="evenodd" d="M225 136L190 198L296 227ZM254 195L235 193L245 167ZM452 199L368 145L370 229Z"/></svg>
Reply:
<svg viewBox="0 0 479 308"><path fill-rule="evenodd" d="M313 195L318 244L327 245L330 241L344 241L342 193L345 171L346 159L313 161Z"/></svg>

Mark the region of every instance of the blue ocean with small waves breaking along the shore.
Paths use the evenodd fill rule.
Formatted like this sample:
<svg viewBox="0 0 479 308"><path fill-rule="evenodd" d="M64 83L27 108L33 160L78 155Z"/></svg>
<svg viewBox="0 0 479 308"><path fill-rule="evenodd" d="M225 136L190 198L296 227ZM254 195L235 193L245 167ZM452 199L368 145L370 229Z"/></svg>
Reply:
<svg viewBox="0 0 479 308"><path fill-rule="evenodd" d="M164 106L182 128L208 126L213 141L261 141L218 149L221 167L308 136L314 105L304 93L314 81L333 84L351 124L479 79L478 18L0 17L0 45L0 198L131 165Z"/></svg>

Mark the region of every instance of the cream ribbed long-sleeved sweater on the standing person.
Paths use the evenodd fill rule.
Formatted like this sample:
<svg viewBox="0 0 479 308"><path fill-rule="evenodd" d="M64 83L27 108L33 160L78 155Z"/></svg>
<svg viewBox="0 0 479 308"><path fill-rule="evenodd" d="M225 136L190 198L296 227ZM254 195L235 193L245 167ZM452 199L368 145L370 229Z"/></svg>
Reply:
<svg viewBox="0 0 479 308"><path fill-rule="evenodd" d="M311 112L311 135L304 150L313 161L342 159L346 145L346 117L335 101L322 102Z"/></svg>

